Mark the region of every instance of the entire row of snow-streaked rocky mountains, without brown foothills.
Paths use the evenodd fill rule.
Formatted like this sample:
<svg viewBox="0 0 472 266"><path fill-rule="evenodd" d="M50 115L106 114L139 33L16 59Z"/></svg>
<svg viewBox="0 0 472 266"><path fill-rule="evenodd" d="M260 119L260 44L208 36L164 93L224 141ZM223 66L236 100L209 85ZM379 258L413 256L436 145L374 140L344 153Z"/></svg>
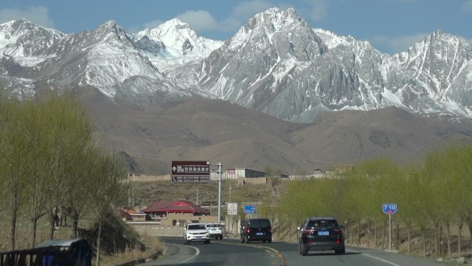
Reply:
<svg viewBox="0 0 472 266"><path fill-rule="evenodd" d="M138 104L215 97L284 120L398 106L472 117L472 46L433 32L408 51L311 28L295 10L255 15L224 43L172 19L128 35L108 21L65 35L23 19L0 25L0 84L15 97L93 88Z"/></svg>

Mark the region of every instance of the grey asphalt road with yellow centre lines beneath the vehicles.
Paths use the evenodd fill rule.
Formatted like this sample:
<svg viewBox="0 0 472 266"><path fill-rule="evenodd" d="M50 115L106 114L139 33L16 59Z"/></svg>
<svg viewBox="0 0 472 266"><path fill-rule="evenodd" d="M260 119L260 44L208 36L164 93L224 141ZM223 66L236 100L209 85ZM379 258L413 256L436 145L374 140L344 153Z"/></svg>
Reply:
<svg viewBox="0 0 472 266"><path fill-rule="evenodd" d="M310 251L308 256L298 253L294 243L250 243L239 240L212 240L210 244L182 245L181 238L161 238L166 243L166 255L145 266L444 266L423 258L414 258L385 251L346 247L345 255L334 251Z"/></svg>

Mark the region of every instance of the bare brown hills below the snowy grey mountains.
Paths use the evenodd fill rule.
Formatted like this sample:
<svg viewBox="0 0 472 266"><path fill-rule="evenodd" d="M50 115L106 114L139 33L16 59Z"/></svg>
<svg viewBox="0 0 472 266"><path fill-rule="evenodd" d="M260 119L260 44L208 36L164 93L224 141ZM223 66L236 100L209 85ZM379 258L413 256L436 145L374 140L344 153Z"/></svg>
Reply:
<svg viewBox="0 0 472 266"><path fill-rule="evenodd" d="M168 173L172 160L295 174L376 156L403 163L449 142L464 143L472 132L466 120L452 123L399 108L336 111L297 124L217 99L142 107L90 93L84 102L101 143L128 154L136 173Z"/></svg>

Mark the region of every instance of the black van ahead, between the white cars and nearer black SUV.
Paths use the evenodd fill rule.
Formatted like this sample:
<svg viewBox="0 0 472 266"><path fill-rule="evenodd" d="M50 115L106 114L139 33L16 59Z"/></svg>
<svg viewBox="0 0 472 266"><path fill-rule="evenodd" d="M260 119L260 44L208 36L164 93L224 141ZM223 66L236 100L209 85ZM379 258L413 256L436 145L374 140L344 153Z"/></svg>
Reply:
<svg viewBox="0 0 472 266"><path fill-rule="evenodd" d="M248 219L241 227L241 243L262 240L272 242L272 226L269 219Z"/></svg>

